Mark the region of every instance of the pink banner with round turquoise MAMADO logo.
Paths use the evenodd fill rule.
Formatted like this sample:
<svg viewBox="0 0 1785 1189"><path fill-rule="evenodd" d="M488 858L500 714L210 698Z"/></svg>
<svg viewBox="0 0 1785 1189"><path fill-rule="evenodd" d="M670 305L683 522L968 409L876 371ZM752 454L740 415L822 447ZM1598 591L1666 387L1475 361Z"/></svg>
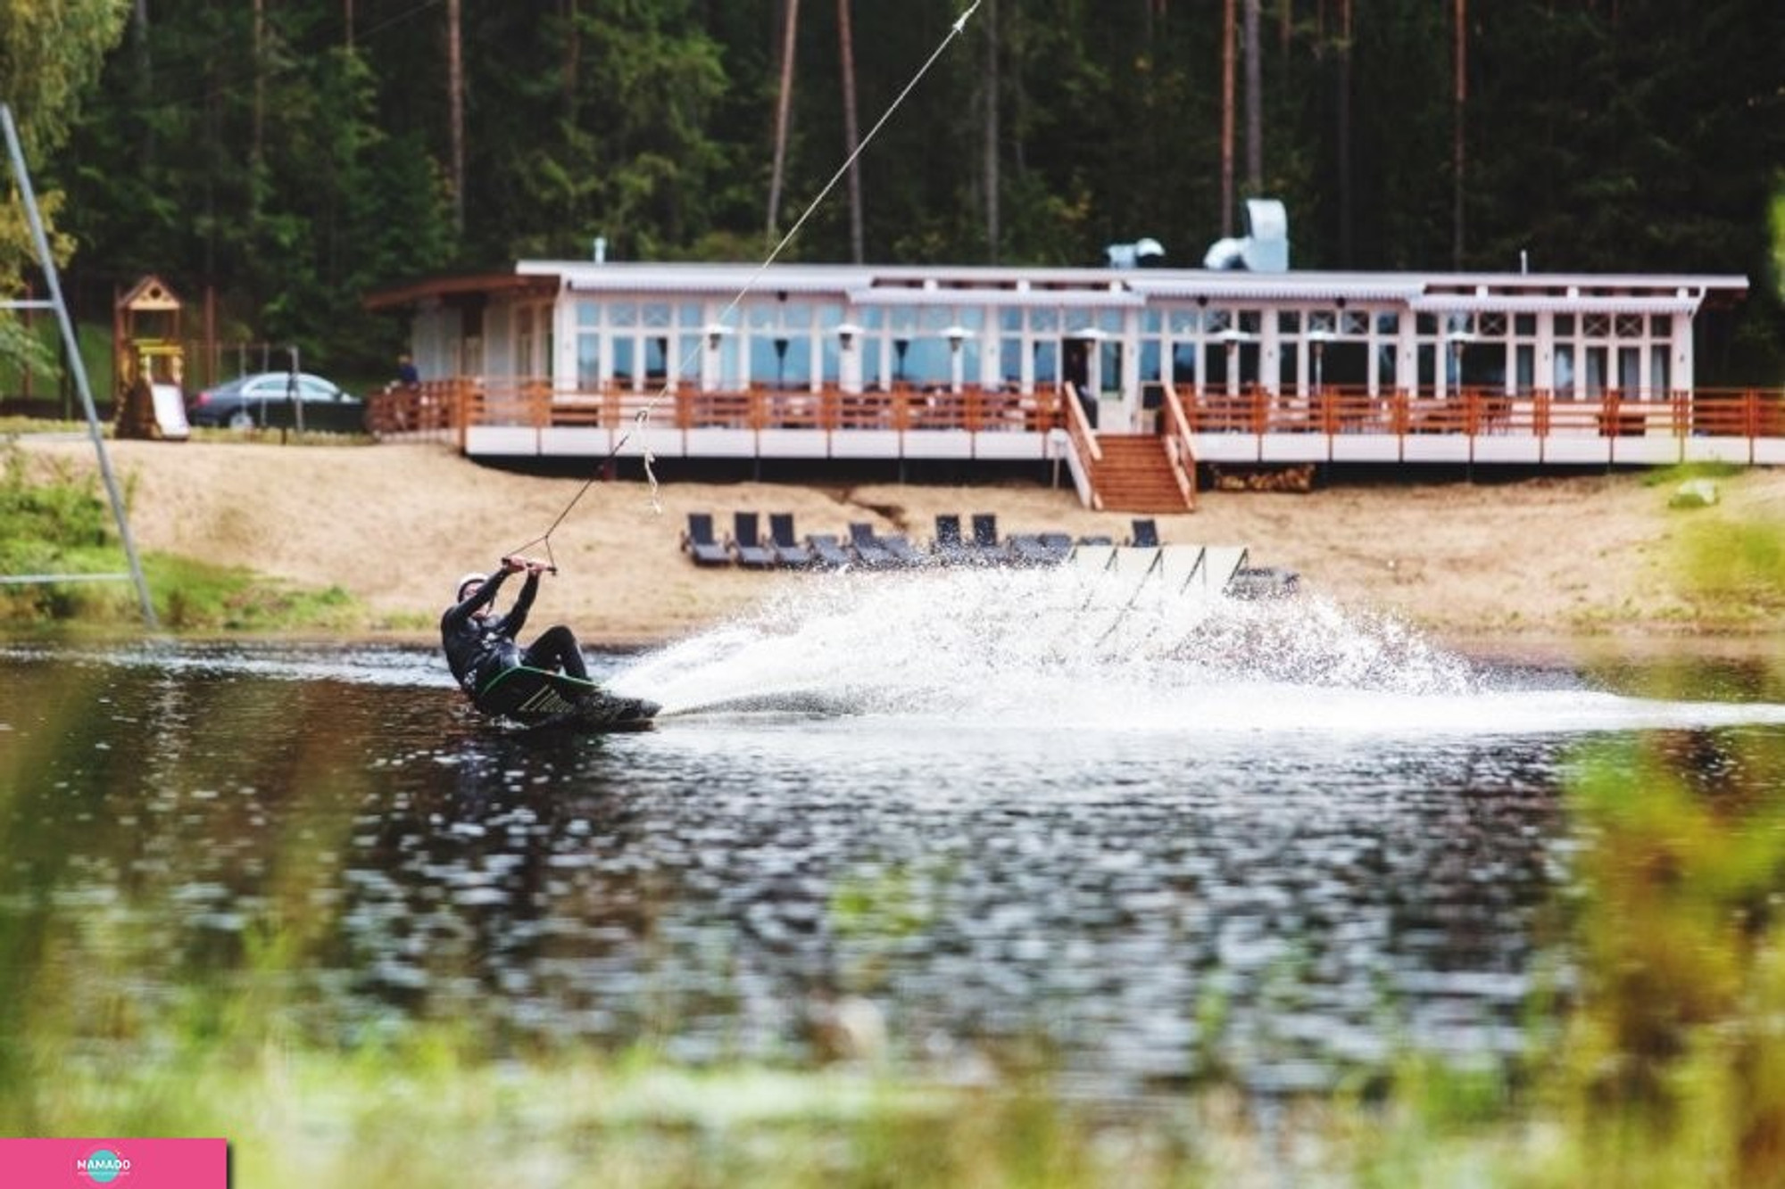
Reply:
<svg viewBox="0 0 1785 1189"><path fill-rule="evenodd" d="M228 1189L223 1139L0 1139L5 1189Z"/></svg>

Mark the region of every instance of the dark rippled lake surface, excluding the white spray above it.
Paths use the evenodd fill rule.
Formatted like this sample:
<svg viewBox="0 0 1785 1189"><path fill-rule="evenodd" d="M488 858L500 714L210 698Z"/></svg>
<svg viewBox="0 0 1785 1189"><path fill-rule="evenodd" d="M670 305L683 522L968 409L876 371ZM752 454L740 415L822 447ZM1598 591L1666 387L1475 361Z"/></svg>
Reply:
<svg viewBox="0 0 1785 1189"><path fill-rule="evenodd" d="M875 709L541 739L469 718L419 652L0 662L0 998L100 971L95 1034L275 950L327 1041L428 1018L689 1062L967 1078L1039 1050L1091 1093L1287 1089L1403 1044L1510 1053L1560 968L1565 730L1341 728L1323 700L1349 691L1278 732ZM1599 698L1501 677L1432 696ZM1649 734L1715 784L1724 730Z"/></svg>

